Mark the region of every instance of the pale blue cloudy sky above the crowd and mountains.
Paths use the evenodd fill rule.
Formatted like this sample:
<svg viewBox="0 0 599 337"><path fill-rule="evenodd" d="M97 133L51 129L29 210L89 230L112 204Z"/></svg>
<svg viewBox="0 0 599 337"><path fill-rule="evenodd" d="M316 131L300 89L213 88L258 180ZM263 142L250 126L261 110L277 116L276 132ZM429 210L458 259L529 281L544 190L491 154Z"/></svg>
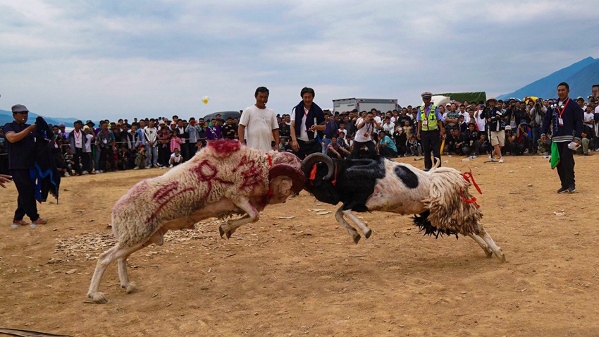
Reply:
<svg viewBox="0 0 599 337"><path fill-rule="evenodd" d="M82 120L485 91L599 56L595 1L0 0L0 109ZM202 99L209 97L209 103Z"/></svg>

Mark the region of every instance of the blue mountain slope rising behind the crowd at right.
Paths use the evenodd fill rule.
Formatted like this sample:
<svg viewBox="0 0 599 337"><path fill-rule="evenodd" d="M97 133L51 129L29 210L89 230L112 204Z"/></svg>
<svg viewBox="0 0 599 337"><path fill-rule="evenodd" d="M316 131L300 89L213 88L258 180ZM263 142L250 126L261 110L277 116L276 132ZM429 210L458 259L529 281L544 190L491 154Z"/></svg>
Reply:
<svg viewBox="0 0 599 337"><path fill-rule="evenodd" d="M529 85L525 85L514 92L502 94L497 99L510 97L523 99L526 96L543 97L545 99L557 97L557 84L560 82L568 83L570 86L570 97L582 96L586 99L586 97L591 95L591 87L599 84L599 59L587 57Z"/></svg>

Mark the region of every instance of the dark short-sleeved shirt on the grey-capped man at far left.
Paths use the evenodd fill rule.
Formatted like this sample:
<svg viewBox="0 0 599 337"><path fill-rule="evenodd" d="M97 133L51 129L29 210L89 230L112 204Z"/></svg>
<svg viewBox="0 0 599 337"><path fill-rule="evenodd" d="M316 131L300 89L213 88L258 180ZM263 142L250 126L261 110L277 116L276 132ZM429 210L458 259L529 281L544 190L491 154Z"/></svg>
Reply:
<svg viewBox="0 0 599 337"><path fill-rule="evenodd" d="M19 124L15 121L4 125L4 134L20 133L29 124ZM8 140L6 140L8 142ZM8 142L8 169L21 170L35 167L35 137L32 133L18 142Z"/></svg>

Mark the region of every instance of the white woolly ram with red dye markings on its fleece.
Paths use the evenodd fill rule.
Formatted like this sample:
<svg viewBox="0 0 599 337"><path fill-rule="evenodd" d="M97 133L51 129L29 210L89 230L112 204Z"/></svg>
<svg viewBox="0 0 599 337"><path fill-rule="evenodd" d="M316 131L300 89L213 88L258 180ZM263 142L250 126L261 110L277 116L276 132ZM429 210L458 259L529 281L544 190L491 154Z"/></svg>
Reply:
<svg viewBox="0 0 599 337"><path fill-rule="evenodd" d="M289 153L264 154L237 140L215 140L184 164L137 183L113 207L112 230L118 243L99 256L87 295L94 302L106 302L99 285L114 260L121 287L128 293L137 291L129 281L127 257L152 243L162 245L169 230L193 228L213 216L242 214L218 228L221 237L229 238L239 226L258 221L267 204L285 202L302 190L300 166Z"/></svg>

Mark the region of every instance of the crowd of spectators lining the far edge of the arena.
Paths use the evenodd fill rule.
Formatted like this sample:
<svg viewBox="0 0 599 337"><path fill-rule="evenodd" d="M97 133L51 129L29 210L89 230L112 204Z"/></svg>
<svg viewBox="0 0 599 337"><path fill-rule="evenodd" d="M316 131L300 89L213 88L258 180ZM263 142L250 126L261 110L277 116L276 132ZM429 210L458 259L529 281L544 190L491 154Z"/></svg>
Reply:
<svg viewBox="0 0 599 337"><path fill-rule="evenodd" d="M498 101L505 118L505 147L502 154L513 156L550 153L551 140L541 142L541 125L548 106L555 99L537 99L522 102L518 99ZM584 130L579 154L588 155L599 149L599 107L596 99L588 102L581 97L576 103L584 111ZM421 156L422 148L416 137L416 114L418 106L406 106L393 111L347 111L325 112L323 131L319 131L322 152L334 158L347 158L354 145L357 125L366 115L376 123L372 141L376 151L384 157ZM446 128L443 154L480 156L493 151L490 147L484 102L449 102L437 106ZM372 115L370 115L372 114ZM293 152L290 136L291 116L277 116L279 144L273 149ZM52 153L58 171L64 176L80 176L129 169L171 168L194 156L207 141L221 138L236 139L238 118L220 115L214 119L194 117L189 120L172 116L171 119L144 118L133 121L76 121L74 130L66 132L66 125L53 125ZM371 149L371 147L369 147ZM357 149L359 150L359 149ZM366 147L361 149L368 151ZM6 140L0 130L0 173L8 172Z"/></svg>

